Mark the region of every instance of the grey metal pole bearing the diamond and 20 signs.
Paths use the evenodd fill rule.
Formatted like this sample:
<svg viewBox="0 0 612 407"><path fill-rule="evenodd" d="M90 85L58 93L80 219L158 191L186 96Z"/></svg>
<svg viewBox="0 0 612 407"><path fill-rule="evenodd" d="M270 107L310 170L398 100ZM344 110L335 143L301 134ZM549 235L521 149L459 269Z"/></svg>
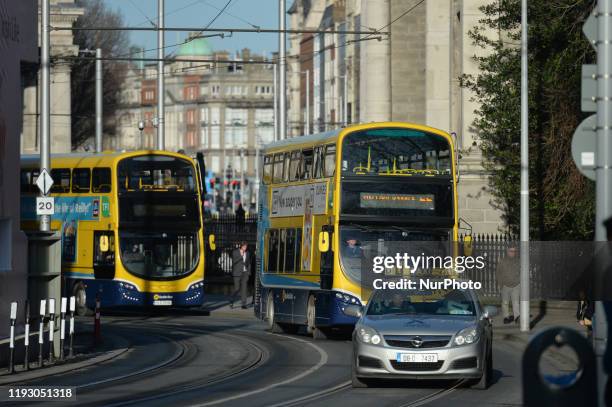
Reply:
<svg viewBox="0 0 612 407"><path fill-rule="evenodd" d="M40 56L41 65L41 81L42 81L42 94L41 94L41 110L42 114L40 117L41 122L41 135L40 135L40 173L43 170L49 172L51 170L51 140L50 140L50 128L51 128L51 80L49 77L49 1L42 1L42 49ZM45 194L41 193L41 196ZM40 230L43 232L49 232L51 230L51 216L42 215L40 217Z"/></svg>

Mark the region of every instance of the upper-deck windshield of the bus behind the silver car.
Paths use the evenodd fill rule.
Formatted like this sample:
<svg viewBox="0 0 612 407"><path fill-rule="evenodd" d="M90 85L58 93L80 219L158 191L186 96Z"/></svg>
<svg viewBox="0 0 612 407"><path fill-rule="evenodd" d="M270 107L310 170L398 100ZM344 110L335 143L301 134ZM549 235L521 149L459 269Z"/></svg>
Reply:
<svg viewBox="0 0 612 407"><path fill-rule="evenodd" d="M358 131L344 138L343 175L451 175L451 146L437 134L403 128Z"/></svg>

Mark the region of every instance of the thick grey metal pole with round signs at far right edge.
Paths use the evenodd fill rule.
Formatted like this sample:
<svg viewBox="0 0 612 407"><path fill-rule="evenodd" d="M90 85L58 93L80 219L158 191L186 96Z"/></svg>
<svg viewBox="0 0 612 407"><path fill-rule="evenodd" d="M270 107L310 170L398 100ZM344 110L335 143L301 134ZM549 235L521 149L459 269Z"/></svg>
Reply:
<svg viewBox="0 0 612 407"><path fill-rule="evenodd" d="M607 240L603 221L612 216L612 0L597 4L597 152L595 167L595 240ZM605 271L604 271L605 273ZM604 277L603 274L599 275ZM608 316L609 317L609 316ZM604 406L608 381L603 357L608 341L606 312L602 301L595 302L593 347L597 359L597 389L599 405Z"/></svg>

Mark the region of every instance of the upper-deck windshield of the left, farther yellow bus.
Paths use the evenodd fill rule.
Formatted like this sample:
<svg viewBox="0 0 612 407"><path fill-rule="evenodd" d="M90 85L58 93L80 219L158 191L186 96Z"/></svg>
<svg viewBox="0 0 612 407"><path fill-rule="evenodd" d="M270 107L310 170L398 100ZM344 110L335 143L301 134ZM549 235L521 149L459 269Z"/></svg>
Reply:
<svg viewBox="0 0 612 407"><path fill-rule="evenodd" d="M195 191L192 163L164 155L121 160L117 167L119 191Z"/></svg>

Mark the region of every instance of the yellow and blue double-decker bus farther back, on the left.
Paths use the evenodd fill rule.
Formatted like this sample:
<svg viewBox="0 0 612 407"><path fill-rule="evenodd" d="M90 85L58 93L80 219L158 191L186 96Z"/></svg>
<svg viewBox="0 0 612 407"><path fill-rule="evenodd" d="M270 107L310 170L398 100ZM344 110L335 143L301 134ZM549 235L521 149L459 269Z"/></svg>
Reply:
<svg viewBox="0 0 612 407"><path fill-rule="evenodd" d="M21 219L37 230L39 156L22 156ZM103 307L198 306L204 241L197 163L166 151L51 156L51 229L62 239L64 292Z"/></svg>

